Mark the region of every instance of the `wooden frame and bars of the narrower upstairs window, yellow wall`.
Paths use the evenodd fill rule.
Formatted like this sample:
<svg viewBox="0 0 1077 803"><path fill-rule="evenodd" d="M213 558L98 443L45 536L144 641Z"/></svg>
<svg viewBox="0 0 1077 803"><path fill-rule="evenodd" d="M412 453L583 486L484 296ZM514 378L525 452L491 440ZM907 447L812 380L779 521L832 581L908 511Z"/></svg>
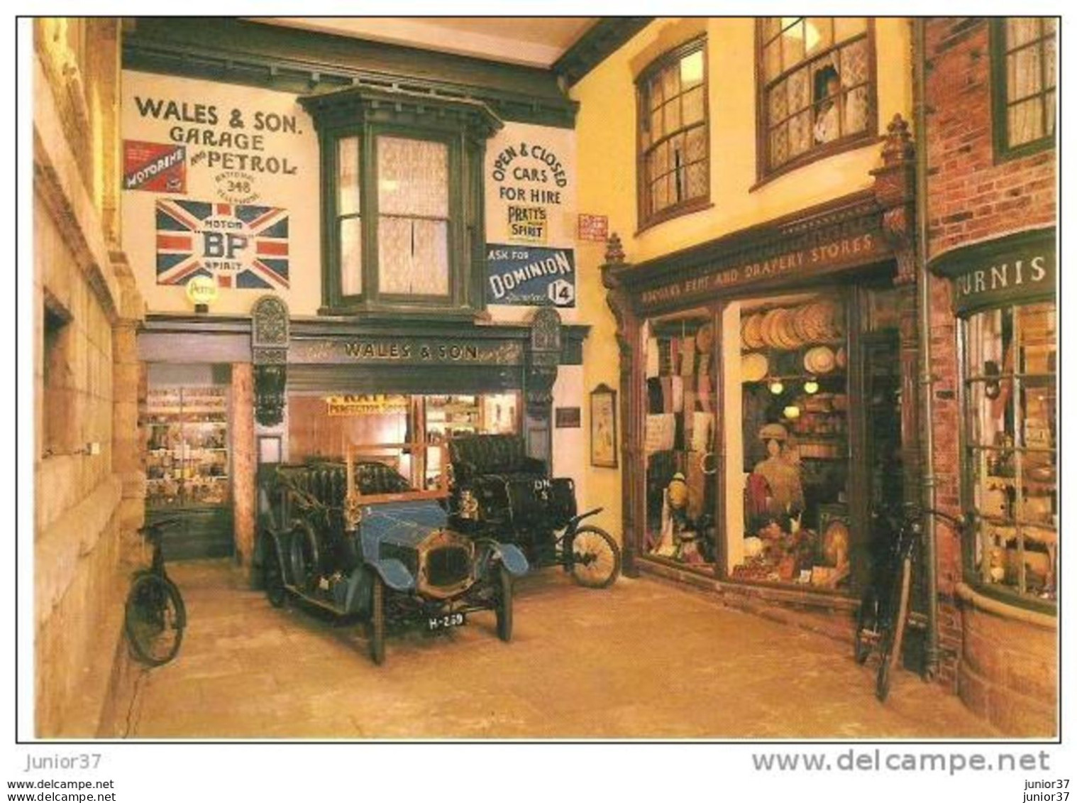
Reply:
<svg viewBox="0 0 1077 803"><path fill-rule="evenodd" d="M646 231L652 226L658 225L659 223L665 223L668 220L674 218L680 218L683 214L690 214L691 212L697 212L701 209L707 209L712 206L711 203L711 103L710 103L710 59L708 58L707 52L708 38L705 33L700 33L693 37L691 39L682 42L675 47L671 47L666 51L655 59L653 59L646 67L644 67L635 77L634 88L635 88L635 205L637 205L637 234ZM644 109L644 89L651 79L658 72L661 72L667 67L681 61L681 59L686 56L691 55L699 51L703 56L703 80L700 86L702 86L703 93L703 121L702 123L694 123L691 126L682 126L677 129L676 134L685 133L691 128L702 127L703 129L703 141L705 148L705 165L707 165L707 193L695 198L688 198L682 200L677 204L672 204L661 209L660 211L647 214L647 209L649 207L647 198L647 155L651 151L659 144L658 142L653 142L646 149L643 147L643 121L645 115L649 115L651 109ZM677 95L679 98L684 96L684 92ZM683 123L683 106L682 106L682 123ZM661 142L666 142L671 139L674 134L670 134L662 138ZM668 174L667 174L668 175Z"/></svg>

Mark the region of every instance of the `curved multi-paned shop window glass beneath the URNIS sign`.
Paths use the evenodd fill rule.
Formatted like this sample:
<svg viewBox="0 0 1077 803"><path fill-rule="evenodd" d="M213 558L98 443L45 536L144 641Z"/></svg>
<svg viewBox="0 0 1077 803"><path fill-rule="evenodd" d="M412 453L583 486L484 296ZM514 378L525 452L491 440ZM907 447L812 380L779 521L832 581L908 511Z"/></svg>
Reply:
<svg viewBox="0 0 1077 803"><path fill-rule="evenodd" d="M964 322L973 576L1044 600L1058 589L1055 327L1051 302Z"/></svg>

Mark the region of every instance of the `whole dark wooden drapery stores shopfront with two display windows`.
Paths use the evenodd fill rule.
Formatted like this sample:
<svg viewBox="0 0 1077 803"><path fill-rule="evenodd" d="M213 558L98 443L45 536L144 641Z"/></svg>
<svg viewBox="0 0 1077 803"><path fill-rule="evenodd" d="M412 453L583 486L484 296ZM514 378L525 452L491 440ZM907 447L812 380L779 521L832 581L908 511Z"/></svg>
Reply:
<svg viewBox="0 0 1077 803"><path fill-rule="evenodd" d="M872 511L919 493L911 158L896 119L869 190L641 264L607 253L630 571L854 605Z"/></svg>

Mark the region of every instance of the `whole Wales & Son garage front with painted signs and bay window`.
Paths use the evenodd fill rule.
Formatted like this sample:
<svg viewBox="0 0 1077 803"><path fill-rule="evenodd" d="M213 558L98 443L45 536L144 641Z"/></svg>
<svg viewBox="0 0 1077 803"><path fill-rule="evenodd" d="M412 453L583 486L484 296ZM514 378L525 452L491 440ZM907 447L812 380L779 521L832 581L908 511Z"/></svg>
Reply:
<svg viewBox="0 0 1077 803"><path fill-rule="evenodd" d="M249 565L260 472L348 442L430 444L393 459L433 486L440 442L515 433L586 485L578 424L554 426L555 404L578 421L588 327L551 71L237 19L126 33L146 509L183 518L171 557Z"/></svg>

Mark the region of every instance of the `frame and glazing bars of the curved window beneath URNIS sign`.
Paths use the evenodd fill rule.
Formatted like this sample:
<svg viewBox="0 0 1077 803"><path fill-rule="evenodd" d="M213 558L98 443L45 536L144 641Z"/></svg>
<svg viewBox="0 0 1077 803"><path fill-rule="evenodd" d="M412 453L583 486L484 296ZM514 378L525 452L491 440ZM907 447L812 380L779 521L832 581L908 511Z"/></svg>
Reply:
<svg viewBox="0 0 1077 803"><path fill-rule="evenodd" d="M965 513L966 521L969 522L967 531L962 535L962 574L964 581L971 587L974 587L978 593L984 594L993 599L1006 603L1007 605L1012 605L1015 607L1024 608L1027 610L1034 610L1041 613L1057 614L1058 613L1058 601L1057 599L1044 599L1036 596L1031 596L1026 592L1021 591L1020 587L1013 587L1006 585L1004 583L990 583L987 582L981 573L981 568L976 565L976 552L977 546L980 544L980 529L979 524L984 521L989 521L989 517L983 515L981 511L976 506L976 482L977 474L975 470L975 462L977 459L977 454L981 452L993 452L1003 451L1004 447L985 446L983 444L973 443L971 438L971 417L970 417L970 405L973 399L973 385L977 383L985 383L987 377L979 374L970 374L968 359L969 359L969 327L971 326L971 319L979 315L990 314L993 311L1006 313L1009 310L1013 319L1017 319L1017 310L1021 307L1033 306L1036 304L1051 303L1054 305L1055 320L1058 321L1059 315L1059 304L1058 297L1054 293L1045 292L1032 294L1027 297L1021 297L1020 300L1013 301L1009 300L1005 303L989 303L979 304L968 309L965 309L957 317L956 327L956 338L957 338L957 370L959 370L959 383L957 383L957 409L960 411L960 416L962 419L962 426L959 432L959 448L960 453L960 465L961 465L961 502L962 510ZM1058 323L1055 323L1058 326ZM1058 342L1055 342L1055 355L1058 355ZM1016 357L1015 357L1016 359ZM1058 357L1055 356L1055 360ZM1055 370L1052 375L1049 374L1036 374L1036 377L1040 376L1052 376L1054 380L1055 398L1058 398L1059 392L1059 365L1055 363ZM1020 394L1023 387L1024 380L1030 376L1030 374L1019 372L1015 365L1015 370L1005 373L1001 372L998 374L998 379L1001 382L1009 380L1012 383L1012 390L1009 403L1016 410L1020 404ZM992 375L992 378L994 376ZM1023 418L1022 418L1023 424ZM1018 485L1019 474L1023 471L1023 459L1020 456L1032 452L1040 452L1043 449L1029 449L1026 444L1023 443L1023 435L1021 437L1021 443L1017 442L1017 435L1019 430L1017 421L1013 424L1015 429L1015 443L1011 447L1011 452L1015 455L1015 484ZM1060 448L1058 441L1053 449L1048 449L1054 454L1054 467L1055 467L1055 496L1059 495L1060 487L1058 483L1058 472L1059 472L1059 457ZM1018 485L1019 487L1019 485ZM1020 497L1020 494L1018 494ZM1019 523L1020 522L1020 523ZM1020 542L1018 544L1018 554L1023 554L1024 546L1024 536L1020 535L1022 527L1036 526L1035 524L1030 524L1029 522L1021 521L1020 516L1015 513L1012 520L1012 526L1019 534ZM1059 537L1059 527L1055 526L1055 538ZM984 556L981 559L987 559ZM1021 571L1020 584L1023 585L1023 569ZM1058 578L1055 579L1058 582Z"/></svg>

